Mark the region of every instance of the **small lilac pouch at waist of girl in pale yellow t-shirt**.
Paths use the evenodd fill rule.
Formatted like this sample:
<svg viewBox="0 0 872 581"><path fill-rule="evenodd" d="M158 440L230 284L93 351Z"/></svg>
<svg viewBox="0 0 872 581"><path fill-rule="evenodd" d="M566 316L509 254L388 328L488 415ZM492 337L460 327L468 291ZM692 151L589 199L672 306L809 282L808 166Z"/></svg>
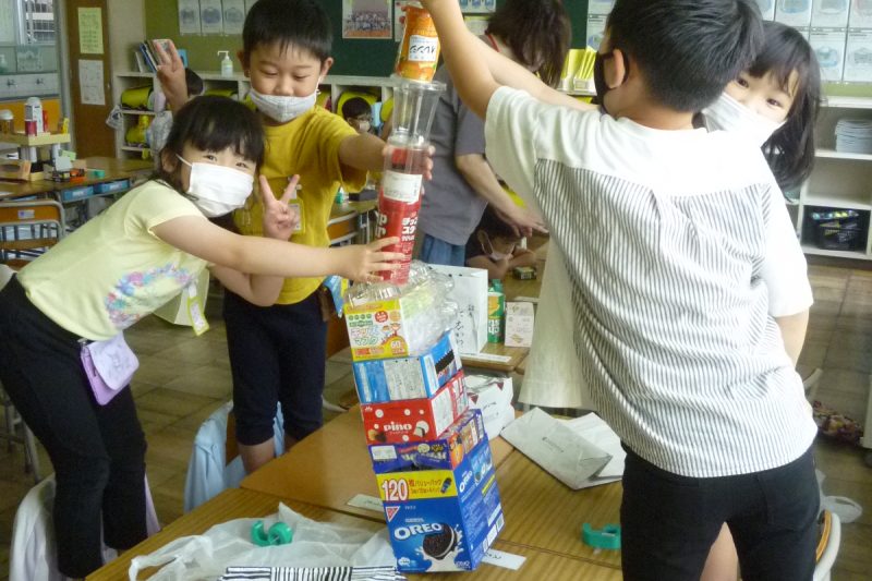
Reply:
<svg viewBox="0 0 872 581"><path fill-rule="evenodd" d="M121 334L107 341L83 342L80 356L94 397L100 406L106 406L119 395L140 366Z"/></svg>

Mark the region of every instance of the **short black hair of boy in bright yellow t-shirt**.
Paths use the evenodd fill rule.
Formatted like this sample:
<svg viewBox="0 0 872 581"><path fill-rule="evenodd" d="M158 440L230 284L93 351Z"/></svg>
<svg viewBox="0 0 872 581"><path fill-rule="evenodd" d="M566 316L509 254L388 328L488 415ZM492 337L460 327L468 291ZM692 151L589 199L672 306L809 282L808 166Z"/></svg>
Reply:
<svg viewBox="0 0 872 581"><path fill-rule="evenodd" d="M242 50L247 56L258 45L278 43L312 52L320 62L330 57L334 41L330 19L316 0L257 0L242 28Z"/></svg>

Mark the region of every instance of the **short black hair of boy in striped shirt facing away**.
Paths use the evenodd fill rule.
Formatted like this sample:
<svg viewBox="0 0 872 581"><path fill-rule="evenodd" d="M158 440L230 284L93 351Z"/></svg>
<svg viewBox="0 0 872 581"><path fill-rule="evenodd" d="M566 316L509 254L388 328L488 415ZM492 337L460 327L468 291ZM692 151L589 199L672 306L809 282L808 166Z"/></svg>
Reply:
<svg viewBox="0 0 872 581"><path fill-rule="evenodd" d="M606 29L609 48L635 62L650 96L688 112L714 101L763 44L751 0L617 0Z"/></svg>

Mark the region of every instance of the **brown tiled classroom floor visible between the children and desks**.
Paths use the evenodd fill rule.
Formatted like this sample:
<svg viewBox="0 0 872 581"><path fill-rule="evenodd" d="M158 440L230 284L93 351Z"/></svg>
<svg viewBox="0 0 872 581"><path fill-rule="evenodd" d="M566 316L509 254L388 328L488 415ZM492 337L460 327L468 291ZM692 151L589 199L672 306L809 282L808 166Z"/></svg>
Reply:
<svg viewBox="0 0 872 581"><path fill-rule="evenodd" d="M872 373L872 271L813 266L815 305L800 361L803 375L824 370L818 397L829 408L862 420ZM148 438L148 480L158 516L165 523L182 513L187 459L194 433L219 406L230 399L230 372L225 329L214 316L211 329L195 338L190 329L149 317L126 336L140 355L133 389ZM337 401L353 386L348 361L328 362L326 398ZM328 414L329 417L329 414ZM847 496L867 508L858 522L843 528L843 544L834 581L872 578L872 469L864 450L820 440L815 457L825 472L824 492ZM44 471L50 470L40 451ZM0 579L7 578L9 543L15 508L32 486L23 472L20 446L0 443Z"/></svg>

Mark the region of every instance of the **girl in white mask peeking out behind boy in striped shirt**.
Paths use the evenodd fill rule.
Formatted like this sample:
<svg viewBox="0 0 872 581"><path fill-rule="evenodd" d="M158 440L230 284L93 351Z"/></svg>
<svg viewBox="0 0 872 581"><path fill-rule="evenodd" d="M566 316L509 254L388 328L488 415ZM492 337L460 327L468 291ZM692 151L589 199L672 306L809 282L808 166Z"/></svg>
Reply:
<svg viewBox="0 0 872 581"><path fill-rule="evenodd" d="M763 22L765 43L750 69L729 83L722 96L703 110L700 126L747 136L762 147L783 191L798 187L814 162L814 122L821 100L821 75L814 51L795 28ZM481 50L485 58L488 51ZM518 66L496 66L499 80L524 88L536 98L578 109L594 106L550 92ZM604 90L609 87L604 86ZM593 404L573 347L570 280L562 254L549 249L543 275L533 347L526 360L519 401L552 408L592 409ZM569 347L567 347L569 346ZM798 355L800 346L786 346ZM708 556L701 581L735 581L738 557L726 524Z"/></svg>

